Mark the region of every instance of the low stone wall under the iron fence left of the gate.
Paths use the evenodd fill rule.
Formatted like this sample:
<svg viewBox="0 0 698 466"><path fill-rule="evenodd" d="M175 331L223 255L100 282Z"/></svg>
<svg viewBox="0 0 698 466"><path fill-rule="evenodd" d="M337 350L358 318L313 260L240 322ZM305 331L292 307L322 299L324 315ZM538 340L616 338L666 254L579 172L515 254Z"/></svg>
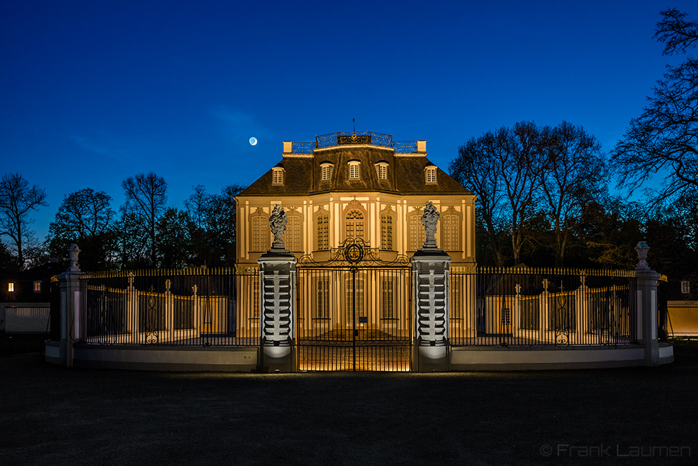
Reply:
<svg viewBox="0 0 698 466"><path fill-rule="evenodd" d="M49 349L51 348L51 349ZM257 347L141 347L73 345L73 367L103 369L249 372L257 367ZM46 361L57 363L53 346Z"/></svg>

